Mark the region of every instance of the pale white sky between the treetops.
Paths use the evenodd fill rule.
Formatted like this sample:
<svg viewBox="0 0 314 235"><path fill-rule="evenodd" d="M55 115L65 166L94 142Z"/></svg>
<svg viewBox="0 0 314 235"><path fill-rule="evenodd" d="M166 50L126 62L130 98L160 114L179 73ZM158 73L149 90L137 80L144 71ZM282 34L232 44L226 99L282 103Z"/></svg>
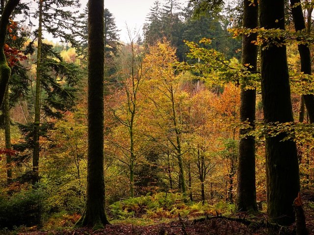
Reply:
<svg viewBox="0 0 314 235"><path fill-rule="evenodd" d="M87 4L88 0L80 0L82 8ZM179 0L182 6L187 0ZM142 28L145 23L150 8L153 7L155 0L105 0L105 8L113 14L117 28L120 29L120 40L129 41L127 26L133 32ZM163 0L159 0L163 4ZM142 31L140 31L142 36Z"/></svg>

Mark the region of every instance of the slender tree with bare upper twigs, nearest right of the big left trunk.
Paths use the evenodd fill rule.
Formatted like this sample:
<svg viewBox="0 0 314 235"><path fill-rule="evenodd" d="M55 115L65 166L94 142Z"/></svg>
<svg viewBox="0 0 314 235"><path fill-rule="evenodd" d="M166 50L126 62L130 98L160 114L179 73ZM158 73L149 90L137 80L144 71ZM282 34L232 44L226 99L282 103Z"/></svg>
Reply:
<svg viewBox="0 0 314 235"><path fill-rule="evenodd" d="M142 71L142 58L140 52L140 46L135 44L135 37L131 36L129 32L131 58L127 58L128 55L124 55L123 58L123 68L118 72L120 75L121 88L123 90L122 102L119 103L118 108L111 108L114 118L122 125L122 128L128 129L128 144L125 146L121 142L111 141L115 146L122 149L124 155L126 155L127 160L123 161L118 158L119 161L127 164L129 168L129 180L130 180L130 197L134 197L134 164L136 164L138 158L143 155L146 151L144 147L147 144L147 140L141 139L137 141L139 132L137 116L140 115L140 104L138 102L139 90L143 84L143 73ZM128 66L126 66L128 65ZM114 100L119 100L118 95L114 95ZM118 127L119 128L119 127ZM120 127L121 128L121 127ZM119 132L122 135L122 132ZM139 143L143 143L143 147L139 147Z"/></svg>

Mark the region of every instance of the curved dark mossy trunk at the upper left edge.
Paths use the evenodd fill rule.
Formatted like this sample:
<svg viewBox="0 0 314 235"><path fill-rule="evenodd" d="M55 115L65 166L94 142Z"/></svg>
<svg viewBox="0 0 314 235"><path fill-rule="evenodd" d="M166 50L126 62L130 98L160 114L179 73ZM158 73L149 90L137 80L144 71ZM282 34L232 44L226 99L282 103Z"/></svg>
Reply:
<svg viewBox="0 0 314 235"><path fill-rule="evenodd" d="M5 4L0 19L0 106L2 105L6 87L9 83L11 75L11 69L7 65L4 55L4 43L6 38L7 24L12 11L19 4L19 2L20 0L8 0Z"/></svg>

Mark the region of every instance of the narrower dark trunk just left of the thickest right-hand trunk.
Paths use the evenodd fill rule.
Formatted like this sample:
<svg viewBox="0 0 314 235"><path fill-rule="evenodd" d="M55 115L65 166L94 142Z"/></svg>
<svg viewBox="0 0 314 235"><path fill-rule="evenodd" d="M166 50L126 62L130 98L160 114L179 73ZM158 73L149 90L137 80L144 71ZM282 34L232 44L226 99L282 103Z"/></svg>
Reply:
<svg viewBox="0 0 314 235"><path fill-rule="evenodd" d="M258 0L253 4L250 0L243 1L243 27L256 28L258 26ZM257 71L257 47L251 43L256 40L256 34L243 35L242 64L250 64L252 72ZM240 120L249 121L254 126L256 90L241 88ZM247 129L240 129L240 135L247 133ZM237 169L237 211L257 211L255 186L255 138L247 136L239 142Z"/></svg>

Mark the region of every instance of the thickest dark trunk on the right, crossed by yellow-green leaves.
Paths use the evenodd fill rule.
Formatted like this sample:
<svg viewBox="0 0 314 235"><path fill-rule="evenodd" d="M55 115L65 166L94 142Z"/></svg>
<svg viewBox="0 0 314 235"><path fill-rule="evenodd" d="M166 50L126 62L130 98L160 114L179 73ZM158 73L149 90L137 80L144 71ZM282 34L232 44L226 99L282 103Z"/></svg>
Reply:
<svg viewBox="0 0 314 235"><path fill-rule="evenodd" d="M260 0L261 27L285 29L284 0ZM277 40L280 42L280 40ZM265 122L291 122L292 105L286 46L261 52L262 102ZM293 200L300 190L295 142L282 141L286 133L266 137L267 213L272 222L294 221Z"/></svg>

